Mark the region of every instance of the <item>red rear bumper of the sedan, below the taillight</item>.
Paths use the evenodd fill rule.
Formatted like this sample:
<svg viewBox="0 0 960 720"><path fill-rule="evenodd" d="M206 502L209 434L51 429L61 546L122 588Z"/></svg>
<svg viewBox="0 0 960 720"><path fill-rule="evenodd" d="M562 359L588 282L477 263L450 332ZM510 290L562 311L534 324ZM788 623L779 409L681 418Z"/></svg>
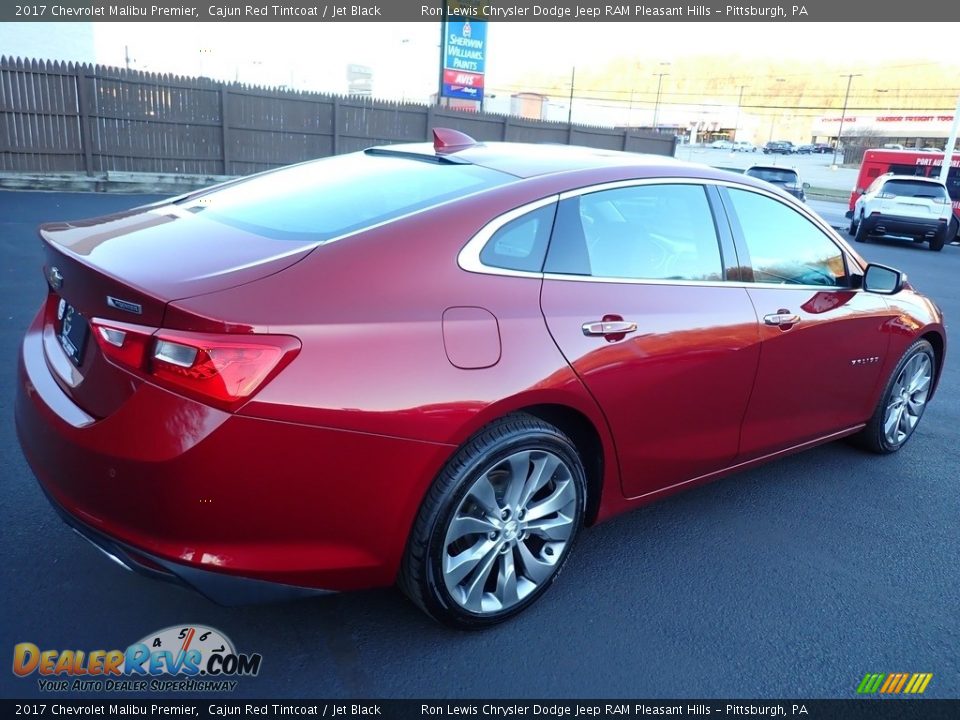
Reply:
<svg viewBox="0 0 960 720"><path fill-rule="evenodd" d="M17 434L99 549L228 604L394 582L450 446L234 415L148 383L96 420L54 380L41 330L20 353Z"/></svg>

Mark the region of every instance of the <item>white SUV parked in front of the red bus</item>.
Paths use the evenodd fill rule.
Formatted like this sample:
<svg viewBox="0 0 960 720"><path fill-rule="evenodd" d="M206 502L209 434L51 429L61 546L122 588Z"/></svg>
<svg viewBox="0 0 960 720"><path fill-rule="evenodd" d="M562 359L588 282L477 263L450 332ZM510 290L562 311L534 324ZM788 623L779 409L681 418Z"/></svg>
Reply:
<svg viewBox="0 0 960 720"><path fill-rule="evenodd" d="M936 178L881 175L857 198L849 232L857 242L870 235L908 235L941 250L952 217L947 187Z"/></svg>

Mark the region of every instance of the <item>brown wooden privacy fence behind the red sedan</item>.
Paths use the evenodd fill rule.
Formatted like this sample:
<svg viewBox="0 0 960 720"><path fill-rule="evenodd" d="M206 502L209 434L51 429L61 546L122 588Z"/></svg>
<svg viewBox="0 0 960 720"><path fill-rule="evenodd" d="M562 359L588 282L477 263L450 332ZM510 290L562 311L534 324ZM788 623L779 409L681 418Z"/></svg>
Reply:
<svg viewBox="0 0 960 720"><path fill-rule="evenodd" d="M673 155L674 137L208 78L0 57L0 171L246 175L434 127Z"/></svg>

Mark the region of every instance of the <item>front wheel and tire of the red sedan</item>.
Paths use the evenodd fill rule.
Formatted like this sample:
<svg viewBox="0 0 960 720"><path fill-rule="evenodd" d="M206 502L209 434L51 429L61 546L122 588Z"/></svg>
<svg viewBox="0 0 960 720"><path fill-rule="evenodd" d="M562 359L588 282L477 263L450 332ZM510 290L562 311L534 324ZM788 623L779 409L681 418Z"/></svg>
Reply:
<svg viewBox="0 0 960 720"><path fill-rule="evenodd" d="M862 447L886 455L906 444L930 399L936 367L933 346L926 340L917 340L907 348L869 422L855 436Z"/></svg>

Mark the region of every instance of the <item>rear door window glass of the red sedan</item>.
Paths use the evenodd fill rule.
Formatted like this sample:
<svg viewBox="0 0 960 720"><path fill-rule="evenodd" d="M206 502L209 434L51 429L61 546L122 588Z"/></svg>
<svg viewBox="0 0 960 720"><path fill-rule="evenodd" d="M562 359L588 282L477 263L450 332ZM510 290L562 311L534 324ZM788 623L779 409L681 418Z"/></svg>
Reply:
<svg viewBox="0 0 960 720"><path fill-rule="evenodd" d="M544 269L631 280L722 280L706 190L638 185L564 200Z"/></svg>

